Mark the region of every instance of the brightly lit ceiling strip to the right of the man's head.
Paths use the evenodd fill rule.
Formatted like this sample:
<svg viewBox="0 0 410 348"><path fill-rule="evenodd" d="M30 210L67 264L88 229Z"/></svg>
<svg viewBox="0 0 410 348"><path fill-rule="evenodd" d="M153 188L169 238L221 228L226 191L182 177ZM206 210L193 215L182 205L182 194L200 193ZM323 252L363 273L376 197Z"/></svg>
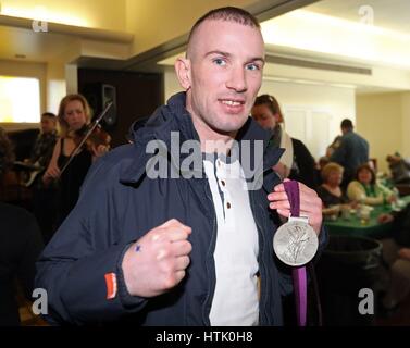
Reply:
<svg viewBox="0 0 410 348"><path fill-rule="evenodd" d="M346 57L410 69L410 36L338 17L296 10L261 24L273 47Z"/></svg>

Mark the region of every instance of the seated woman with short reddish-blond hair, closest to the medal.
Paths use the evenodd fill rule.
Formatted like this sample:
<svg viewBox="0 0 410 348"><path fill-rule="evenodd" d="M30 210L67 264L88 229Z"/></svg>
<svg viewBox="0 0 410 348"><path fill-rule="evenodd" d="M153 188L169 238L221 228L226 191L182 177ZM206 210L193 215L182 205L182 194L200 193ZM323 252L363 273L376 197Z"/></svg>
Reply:
<svg viewBox="0 0 410 348"><path fill-rule="evenodd" d="M337 214L340 204L348 202L348 198L340 188L343 172L343 166L335 162L330 162L322 169L323 184L318 187L316 192L322 199L324 215Z"/></svg>

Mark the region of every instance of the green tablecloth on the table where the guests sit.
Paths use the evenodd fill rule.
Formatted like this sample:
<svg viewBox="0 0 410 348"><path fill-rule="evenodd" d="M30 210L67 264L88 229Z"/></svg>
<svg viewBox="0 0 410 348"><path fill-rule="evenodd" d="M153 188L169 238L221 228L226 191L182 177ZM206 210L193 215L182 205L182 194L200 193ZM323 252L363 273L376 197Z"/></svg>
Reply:
<svg viewBox="0 0 410 348"><path fill-rule="evenodd" d="M400 200L406 204L410 203L410 196L401 197ZM405 206L406 207L406 206ZM325 220L324 224L331 235L353 235L372 238L388 237L393 223L381 224L377 222L377 216L382 213L392 212L390 206L374 207L370 213L370 221L365 224L357 215L350 214L349 219L338 217L335 221Z"/></svg>

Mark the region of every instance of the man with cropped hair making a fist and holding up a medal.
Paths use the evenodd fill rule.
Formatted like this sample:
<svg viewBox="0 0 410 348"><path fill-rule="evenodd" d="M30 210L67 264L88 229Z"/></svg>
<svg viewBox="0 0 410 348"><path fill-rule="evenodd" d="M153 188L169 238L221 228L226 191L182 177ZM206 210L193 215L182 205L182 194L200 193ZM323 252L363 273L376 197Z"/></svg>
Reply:
<svg viewBox="0 0 410 348"><path fill-rule="evenodd" d="M283 324L281 295L293 286L272 238L290 203L272 171L282 151L249 116L263 65L251 14L222 8L198 20L175 63L184 91L92 166L38 262L50 321ZM299 191L321 248L322 202Z"/></svg>

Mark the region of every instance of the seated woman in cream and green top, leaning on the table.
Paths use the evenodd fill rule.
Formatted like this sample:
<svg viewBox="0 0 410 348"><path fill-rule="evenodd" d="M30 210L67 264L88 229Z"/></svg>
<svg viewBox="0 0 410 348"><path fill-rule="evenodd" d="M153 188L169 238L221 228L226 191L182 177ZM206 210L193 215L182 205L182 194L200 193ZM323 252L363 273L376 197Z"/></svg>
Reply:
<svg viewBox="0 0 410 348"><path fill-rule="evenodd" d="M390 189L376 182L376 175L369 164L358 166L355 181L347 187L347 197L368 206L380 206L396 200Z"/></svg>

